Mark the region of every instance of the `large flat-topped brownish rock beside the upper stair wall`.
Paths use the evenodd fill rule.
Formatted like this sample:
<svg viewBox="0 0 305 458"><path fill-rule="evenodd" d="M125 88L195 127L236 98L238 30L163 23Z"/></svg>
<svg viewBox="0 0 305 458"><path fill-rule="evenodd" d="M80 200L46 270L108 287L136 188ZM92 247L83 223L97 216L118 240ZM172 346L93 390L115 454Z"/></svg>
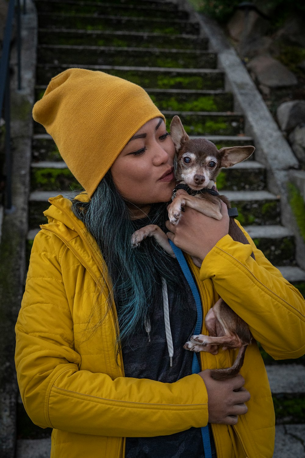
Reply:
<svg viewBox="0 0 305 458"><path fill-rule="evenodd" d="M294 86L298 83L294 74L269 55L260 55L252 59L247 68L257 77L260 84L268 87Z"/></svg>

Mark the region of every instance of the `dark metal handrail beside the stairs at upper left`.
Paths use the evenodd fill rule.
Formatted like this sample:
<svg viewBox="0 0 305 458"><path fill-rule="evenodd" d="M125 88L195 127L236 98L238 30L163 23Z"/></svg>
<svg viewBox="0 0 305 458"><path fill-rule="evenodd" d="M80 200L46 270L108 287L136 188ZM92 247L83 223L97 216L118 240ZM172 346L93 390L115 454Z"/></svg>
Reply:
<svg viewBox="0 0 305 458"><path fill-rule="evenodd" d="M13 20L16 3L16 25L17 25L17 61L18 61L18 89L21 89L21 21L20 21L20 0L10 0L7 10L5 30L3 37L2 55L0 58L0 115L4 109L5 120L5 208L12 208L11 202L11 113L10 113L10 51L11 38L13 30ZM25 14L26 5L23 0L23 14Z"/></svg>

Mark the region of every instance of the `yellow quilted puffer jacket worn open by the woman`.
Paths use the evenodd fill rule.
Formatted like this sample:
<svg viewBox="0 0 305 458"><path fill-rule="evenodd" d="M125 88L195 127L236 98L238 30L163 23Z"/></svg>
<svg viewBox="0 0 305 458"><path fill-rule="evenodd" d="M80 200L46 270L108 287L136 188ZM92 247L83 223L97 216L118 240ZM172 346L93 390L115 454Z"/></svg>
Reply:
<svg viewBox="0 0 305 458"><path fill-rule="evenodd" d="M16 324L16 368L28 415L42 428L54 428L51 457L123 458L123 437L206 425L207 393L197 374L175 383L124 377L122 355L119 366L115 355L116 309L107 306L98 246L69 200L50 202L48 224L34 240ZM298 358L305 352L305 302L249 241L243 245L226 235L200 271L189 260L203 316L220 294L273 358ZM235 355L202 352L202 367L227 367ZM217 456L271 458L273 402L256 344L246 350L241 373L251 393L248 412L236 426L212 425Z"/></svg>

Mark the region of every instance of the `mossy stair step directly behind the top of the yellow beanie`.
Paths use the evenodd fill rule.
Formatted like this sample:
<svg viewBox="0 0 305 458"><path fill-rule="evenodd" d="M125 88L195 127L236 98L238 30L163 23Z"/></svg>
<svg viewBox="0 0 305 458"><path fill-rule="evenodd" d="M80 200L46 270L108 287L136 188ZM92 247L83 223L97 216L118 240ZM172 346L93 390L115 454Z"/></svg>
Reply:
<svg viewBox="0 0 305 458"><path fill-rule="evenodd" d="M75 58L76 59L76 58ZM48 84L51 78L77 65L37 65L37 84ZM80 68L81 65L78 65ZM86 65L89 70L100 70L113 76L149 88L223 89L224 73L218 69L183 69L161 67L133 67L117 65Z"/></svg>

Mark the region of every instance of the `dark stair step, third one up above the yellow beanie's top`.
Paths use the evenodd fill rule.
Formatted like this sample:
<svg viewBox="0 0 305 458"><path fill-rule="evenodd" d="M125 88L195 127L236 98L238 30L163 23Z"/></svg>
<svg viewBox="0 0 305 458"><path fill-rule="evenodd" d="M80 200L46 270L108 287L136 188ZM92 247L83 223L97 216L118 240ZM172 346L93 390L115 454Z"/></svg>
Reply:
<svg viewBox="0 0 305 458"><path fill-rule="evenodd" d="M199 34L199 24L179 19L154 19L147 17L130 17L130 16L107 16L107 15L90 15L90 14L38 14L39 28L76 28L86 30L125 30L133 32L156 33L190 33Z"/></svg>

